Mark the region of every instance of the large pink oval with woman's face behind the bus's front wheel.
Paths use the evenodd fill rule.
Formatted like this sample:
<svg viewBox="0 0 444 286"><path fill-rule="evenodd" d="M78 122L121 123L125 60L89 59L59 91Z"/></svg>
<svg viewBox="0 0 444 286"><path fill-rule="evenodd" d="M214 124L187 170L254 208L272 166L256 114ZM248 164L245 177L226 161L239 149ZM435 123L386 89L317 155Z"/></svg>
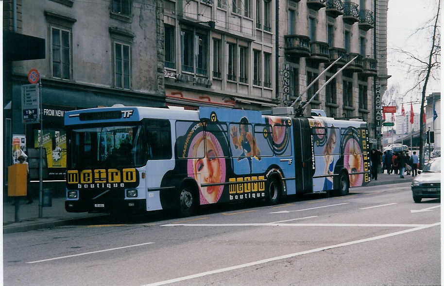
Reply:
<svg viewBox="0 0 444 286"><path fill-rule="evenodd" d="M194 136L188 149L188 176L196 180L199 185L201 205L213 204L219 201L223 185L201 187L201 184L225 182L225 159L221 143L212 133L200 131ZM206 146L206 154L205 152ZM200 158L203 157L203 158Z"/></svg>

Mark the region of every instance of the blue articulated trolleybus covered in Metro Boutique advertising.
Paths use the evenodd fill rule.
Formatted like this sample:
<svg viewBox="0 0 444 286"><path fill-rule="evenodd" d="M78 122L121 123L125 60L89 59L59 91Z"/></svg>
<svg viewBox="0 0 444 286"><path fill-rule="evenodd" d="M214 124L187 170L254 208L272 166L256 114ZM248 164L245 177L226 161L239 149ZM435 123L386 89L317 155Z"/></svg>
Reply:
<svg viewBox="0 0 444 286"><path fill-rule="evenodd" d="M67 111L69 212L176 209L370 181L367 124L201 107Z"/></svg>

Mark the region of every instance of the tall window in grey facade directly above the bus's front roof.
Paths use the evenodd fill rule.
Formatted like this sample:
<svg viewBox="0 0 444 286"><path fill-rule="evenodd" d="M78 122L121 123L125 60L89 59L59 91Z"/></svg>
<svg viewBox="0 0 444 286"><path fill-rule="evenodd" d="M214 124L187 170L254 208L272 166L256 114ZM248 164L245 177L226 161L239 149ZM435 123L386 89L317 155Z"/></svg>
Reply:
<svg viewBox="0 0 444 286"><path fill-rule="evenodd" d="M130 89L131 47L114 43L114 80L117 88Z"/></svg>

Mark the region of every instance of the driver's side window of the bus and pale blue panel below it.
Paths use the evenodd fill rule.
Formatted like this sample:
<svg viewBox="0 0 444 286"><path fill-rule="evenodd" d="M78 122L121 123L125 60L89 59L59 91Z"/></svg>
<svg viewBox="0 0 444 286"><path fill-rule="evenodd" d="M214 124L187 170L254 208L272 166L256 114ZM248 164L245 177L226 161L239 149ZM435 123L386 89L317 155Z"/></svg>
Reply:
<svg viewBox="0 0 444 286"><path fill-rule="evenodd" d="M166 119L145 120L146 142L146 198L147 210L162 209L161 182L164 175L174 169L171 147L171 124Z"/></svg>

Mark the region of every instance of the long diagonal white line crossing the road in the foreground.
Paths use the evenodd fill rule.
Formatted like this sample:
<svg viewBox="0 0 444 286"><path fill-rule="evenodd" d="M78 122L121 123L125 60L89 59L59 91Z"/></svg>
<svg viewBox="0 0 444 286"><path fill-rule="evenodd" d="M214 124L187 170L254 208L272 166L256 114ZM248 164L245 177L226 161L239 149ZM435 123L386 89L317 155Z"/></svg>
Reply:
<svg viewBox="0 0 444 286"><path fill-rule="evenodd" d="M231 266L231 267L226 267L226 268L221 268L221 269L217 269L217 270L210 270L210 271L196 273L196 274L192 274L192 275L188 275L188 276L182 276L182 277L178 277L178 278L174 278L174 279L170 279L170 280L159 281L159 282L155 282L155 283L151 283L151 284L146 284L144 286L160 286L160 285L165 285L165 284L170 284L170 283L190 280L190 279L194 279L194 278L198 278L198 277L203 277L203 276L206 276L206 275L222 273L222 272L226 272L226 271L230 271L230 270L237 270L237 269L241 269L241 268L245 268L245 267L255 266L255 265L264 264L264 263L268 263L268 262L272 262L272 261L276 261L276 260L281 260L281 259L286 259L286 258L290 258L290 257L295 257L295 256L299 256L299 255L320 252L320 251L324 251L324 250L327 250L327 249L338 248L338 247L358 244L358 243L372 241L372 240L377 240L377 239L382 239L382 238L389 238L389 237L393 237L393 236L397 236L397 235L401 235L401 234L405 234L405 233L409 233L409 232L413 232L413 231L422 230L422 229L429 228L429 227L434 227L434 226L437 226L437 225L440 225L440 224L441 224L441 222L436 222L436 223L433 223L433 224L426 224L426 225L423 225L423 226L420 226L420 227L410 228L410 229L406 229L406 230L402 230L402 231L397 231L397 232L393 232L393 233L389 233L389 234L385 234L385 235L380 235L380 236L376 236L376 237L364 238L364 239L344 242L344 243L340 243L340 244L335 244L335 245L315 248L315 249L311 249L311 250L307 250L307 251L301 251L301 252L297 252L297 253L292 253L292 254L286 254L286 255L271 257L271 258L267 258L267 259L262 259L262 260L250 262L250 263L239 264L239 265L235 265L235 266Z"/></svg>

